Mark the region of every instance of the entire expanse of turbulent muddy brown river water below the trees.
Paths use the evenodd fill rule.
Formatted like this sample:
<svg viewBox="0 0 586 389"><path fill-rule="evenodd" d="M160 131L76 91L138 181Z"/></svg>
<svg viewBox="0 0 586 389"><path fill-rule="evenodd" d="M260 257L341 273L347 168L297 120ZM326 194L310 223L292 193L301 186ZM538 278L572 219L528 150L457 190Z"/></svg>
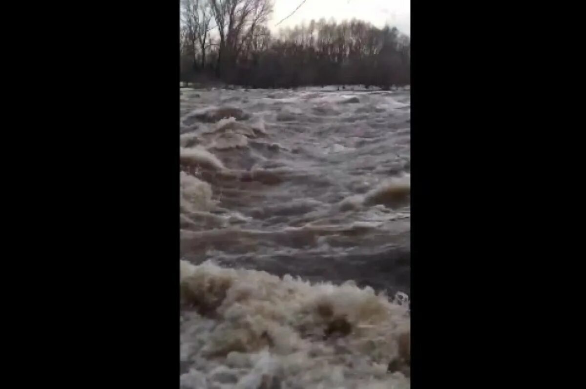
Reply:
<svg viewBox="0 0 586 389"><path fill-rule="evenodd" d="M184 388L410 387L410 91L180 88Z"/></svg>

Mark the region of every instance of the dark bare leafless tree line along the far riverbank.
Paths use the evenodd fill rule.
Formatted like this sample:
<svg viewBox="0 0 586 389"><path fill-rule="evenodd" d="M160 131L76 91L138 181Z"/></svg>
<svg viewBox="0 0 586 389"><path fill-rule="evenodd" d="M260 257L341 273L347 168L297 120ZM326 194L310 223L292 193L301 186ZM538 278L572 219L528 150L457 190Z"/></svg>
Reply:
<svg viewBox="0 0 586 389"><path fill-rule="evenodd" d="M249 87L410 83L411 43L396 28L312 20L273 34L271 0L180 0L180 77Z"/></svg>

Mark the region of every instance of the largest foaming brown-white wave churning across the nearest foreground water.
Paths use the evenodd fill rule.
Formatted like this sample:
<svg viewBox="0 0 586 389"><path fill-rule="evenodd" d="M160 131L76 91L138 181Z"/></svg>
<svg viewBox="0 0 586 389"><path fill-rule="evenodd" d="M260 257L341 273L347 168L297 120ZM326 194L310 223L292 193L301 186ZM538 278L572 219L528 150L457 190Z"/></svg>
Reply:
<svg viewBox="0 0 586 389"><path fill-rule="evenodd" d="M226 388L410 385L387 373L390 361L410 361L408 309L371 288L185 261L180 285L186 387L202 382L193 371Z"/></svg>

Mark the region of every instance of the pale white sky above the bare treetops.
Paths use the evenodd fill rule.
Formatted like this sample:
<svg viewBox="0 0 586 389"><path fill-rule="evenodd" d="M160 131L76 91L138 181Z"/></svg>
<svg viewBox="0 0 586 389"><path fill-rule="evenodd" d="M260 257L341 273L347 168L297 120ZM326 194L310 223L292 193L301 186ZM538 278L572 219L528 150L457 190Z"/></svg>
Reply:
<svg viewBox="0 0 586 389"><path fill-rule="evenodd" d="M302 0L274 0L272 20L268 23L271 30L294 26L302 21L320 18L337 22L352 18L362 19L377 27L385 23L395 26L400 32L411 35L411 0L306 0L289 19L278 27L275 25L289 15Z"/></svg>

